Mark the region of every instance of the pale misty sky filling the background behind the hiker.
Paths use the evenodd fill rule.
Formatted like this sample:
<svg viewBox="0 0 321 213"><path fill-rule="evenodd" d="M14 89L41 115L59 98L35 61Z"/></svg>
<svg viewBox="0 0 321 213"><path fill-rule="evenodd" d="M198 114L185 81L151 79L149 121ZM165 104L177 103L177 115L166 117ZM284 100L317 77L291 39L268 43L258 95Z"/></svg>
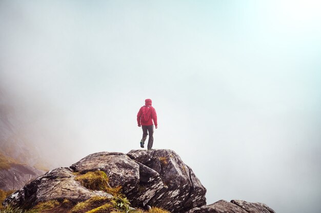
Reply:
<svg viewBox="0 0 321 213"><path fill-rule="evenodd" d="M0 87L55 167L172 149L220 199L321 212L318 1L3 1Z"/></svg>

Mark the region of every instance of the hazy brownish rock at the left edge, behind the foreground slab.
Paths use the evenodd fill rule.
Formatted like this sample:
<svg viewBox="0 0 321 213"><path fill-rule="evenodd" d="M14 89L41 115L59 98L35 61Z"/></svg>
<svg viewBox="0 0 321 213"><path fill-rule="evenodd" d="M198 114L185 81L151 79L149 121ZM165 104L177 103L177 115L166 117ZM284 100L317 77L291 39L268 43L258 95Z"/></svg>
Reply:
<svg viewBox="0 0 321 213"><path fill-rule="evenodd" d="M0 188L4 191L17 190L45 171L22 164L11 164L9 169L0 169Z"/></svg>

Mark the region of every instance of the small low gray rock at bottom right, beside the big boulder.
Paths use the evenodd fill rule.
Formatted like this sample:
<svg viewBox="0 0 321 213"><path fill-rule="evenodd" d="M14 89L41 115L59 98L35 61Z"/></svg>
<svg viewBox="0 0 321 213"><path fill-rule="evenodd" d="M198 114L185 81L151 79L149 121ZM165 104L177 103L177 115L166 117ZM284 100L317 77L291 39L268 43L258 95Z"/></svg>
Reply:
<svg viewBox="0 0 321 213"><path fill-rule="evenodd" d="M210 205L193 208L186 213L275 213L275 211L263 203L219 200Z"/></svg>

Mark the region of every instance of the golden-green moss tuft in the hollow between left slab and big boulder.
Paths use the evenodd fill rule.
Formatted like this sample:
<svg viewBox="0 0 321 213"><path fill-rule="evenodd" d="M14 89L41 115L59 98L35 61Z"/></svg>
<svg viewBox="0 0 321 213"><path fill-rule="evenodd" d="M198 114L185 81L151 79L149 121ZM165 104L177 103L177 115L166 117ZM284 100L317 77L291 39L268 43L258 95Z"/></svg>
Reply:
<svg viewBox="0 0 321 213"><path fill-rule="evenodd" d="M122 186L110 187L107 174L103 171L87 172L86 174L76 176L75 180L89 190L104 191L113 196L119 195L122 189Z"/></svg>

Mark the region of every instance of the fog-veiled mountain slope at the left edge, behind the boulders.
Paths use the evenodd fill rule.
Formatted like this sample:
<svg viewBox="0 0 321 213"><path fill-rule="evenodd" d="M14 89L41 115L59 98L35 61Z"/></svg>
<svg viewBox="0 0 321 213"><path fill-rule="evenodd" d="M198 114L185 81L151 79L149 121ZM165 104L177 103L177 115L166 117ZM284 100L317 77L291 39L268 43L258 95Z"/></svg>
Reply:
<svg viewBox="0 0 321 213"><path fill-rule="evenodd" d="M42 175L46 162L24 137L8 97L0 91L0 189L17 190Z"/></svg>

